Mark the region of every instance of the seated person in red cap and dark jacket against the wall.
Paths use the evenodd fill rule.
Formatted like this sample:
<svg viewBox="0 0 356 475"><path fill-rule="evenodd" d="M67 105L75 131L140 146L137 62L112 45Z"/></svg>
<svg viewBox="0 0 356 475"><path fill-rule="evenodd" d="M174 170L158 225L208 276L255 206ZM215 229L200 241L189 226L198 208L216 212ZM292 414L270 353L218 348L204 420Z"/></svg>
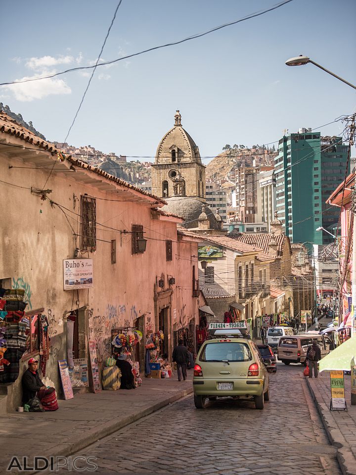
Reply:
<svg viewBox="0 0 356 475"><path fill-rule="evenodd" d="M54 387L47 388L41 381L38 374L38 360L35 360L35 358L29 359L28 369L22 376L22 391L22 401L24 404L37 396L43 403L46 411L55 411L58 409L55 389Z"/></svg>

